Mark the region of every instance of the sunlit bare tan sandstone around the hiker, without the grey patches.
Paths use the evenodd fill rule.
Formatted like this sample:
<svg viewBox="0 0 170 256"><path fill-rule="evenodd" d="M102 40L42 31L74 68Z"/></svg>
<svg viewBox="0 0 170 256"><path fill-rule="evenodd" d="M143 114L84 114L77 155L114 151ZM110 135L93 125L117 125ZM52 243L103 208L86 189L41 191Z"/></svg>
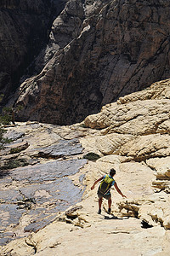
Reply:
<svg viewBox="0 0 170 256"><path fill-rule="evenodd" d="M149 90L158 95L162 83L168 84L165 81L156 83L156 87L152 85ZM146 100L142 91L135 97L137 101L107 105L100 113L88 116L81 124L56 126L18 123L14 127L20 133L25 132L26 141L30 144L20 153L22 157L26 155L28 159L34 158L37 148L52 146L59 143L60 139L71 141L78 138L84 149L77 159L88 152L99 154L100 158L88 160L79 172L69 176L77 188L86 186L81 202L65 212L59 212L51 224L37 233L32 232L24 238L10 241L1 247L1 255L105 253L117 256L167 256L170 253L170 156L167 129L170 103L165 98ZM126 98L130 99L131 96ZM73 156L65 158L71 160ZM42 157L38 160L40 163L54 161ZM90 188L111 167L116 169L116 183L127 198L122 199L115 189L111 189L111 215L105 212L105 200L99 215L98 186L94 190ZM83 177L82 181L80 177ZM1 189L7 190L8 187L3 184ZM36 195L48 197L46 192L45 189L39 189ZM46 207L50 208L50 204L47 203ZM17 232L23 234L24 227L30 221L29 216L25 215L21 218L20 226L14 227L14 230L18 229Z"/></svg>

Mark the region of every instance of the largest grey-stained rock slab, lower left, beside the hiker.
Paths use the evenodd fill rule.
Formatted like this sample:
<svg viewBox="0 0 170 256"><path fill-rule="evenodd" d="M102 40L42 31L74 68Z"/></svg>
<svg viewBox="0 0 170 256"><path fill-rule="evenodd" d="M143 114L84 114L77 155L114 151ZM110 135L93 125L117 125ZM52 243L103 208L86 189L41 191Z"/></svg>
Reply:
<svg viewBox="0 0 170 256"><path fill-rule="evenodd" d="M26 211L33 221L25 227L25 232L37 231L54 220L57 212L80 201L83 191L74 186L68 176L78 172L86 163L87 160L56 160L9 172L8 177L3 179L4 183L10 185L16 178L17 183L25 185L20 184L20 189L1 191L0 211L3 218L0 224L3 236L0 236L0 246L16 238L10 237L6 230L10 224L19 225ZM50 207L47 208L47 205ZM11 233L14 235L14 232Z"/></svg>

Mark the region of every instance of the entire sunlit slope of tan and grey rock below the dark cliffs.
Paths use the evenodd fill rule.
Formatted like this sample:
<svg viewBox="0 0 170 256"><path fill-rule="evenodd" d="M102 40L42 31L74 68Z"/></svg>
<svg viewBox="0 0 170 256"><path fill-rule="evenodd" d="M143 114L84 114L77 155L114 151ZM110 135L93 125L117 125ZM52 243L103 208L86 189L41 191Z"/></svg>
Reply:
<svg viewBox="0 0 170 256"><path fill-rule="evenodd" d="M167 79L120 97L82 123L8 127L15 143L3 149L2 169L11 158L25 158L29 166L1 173L1 241L3 236L14 240L1 247L1 255L169 255L169 113ZM23 141L16 144L18 137ZM83 157L89 152L99 159L87 162ZM111 215L105 212L105 200L99 215L97 186L90 187L111 167L127 199L112 189ZM57 208L66 203L61 201L61 177L72 182L70 192L83 192L82 201L65 212ZM17 219L11 218L10 207L20 215Z"/></svg>

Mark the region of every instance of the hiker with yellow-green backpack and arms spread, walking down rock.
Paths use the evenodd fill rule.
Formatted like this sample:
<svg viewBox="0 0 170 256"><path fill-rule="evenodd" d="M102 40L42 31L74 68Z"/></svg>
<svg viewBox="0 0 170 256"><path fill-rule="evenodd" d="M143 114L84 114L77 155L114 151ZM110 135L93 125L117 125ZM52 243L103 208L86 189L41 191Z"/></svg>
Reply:
<svg viewBox="0 0 170 256"><path fill-rule="evenodd" d="M114 169L111 169L110 174L106 174L105 176L100 177L98 180L94 182L94 185L91 187L93 190L95 185L99 183L99 181L102 181L99 184L98 189L98 197L99 197L99 211L98 213L101 213L101 205L103 201L103 197L108 200L108 213L111 213L111 187L114 185L116 191L122 195L122 197L126 197L126 195L123 195L121 190L118 188L116 181L114 180L113 176L116 174L116 171Z"/></svg>

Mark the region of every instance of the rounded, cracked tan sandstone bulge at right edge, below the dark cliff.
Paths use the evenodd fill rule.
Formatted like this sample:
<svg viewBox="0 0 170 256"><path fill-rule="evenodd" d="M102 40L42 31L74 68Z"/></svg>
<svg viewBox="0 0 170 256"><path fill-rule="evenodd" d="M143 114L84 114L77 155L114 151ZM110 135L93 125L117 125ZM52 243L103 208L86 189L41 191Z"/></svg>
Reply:
<svg viewBox="0 0 170 256"><path fill-rule="evenodd" d="M103 107L100 113L88 116L84 124L95 129L109 127L112 132L122 134L146 135L156 133L158 125L169 119L169 108L168 99L115 102Z"/></svg>

